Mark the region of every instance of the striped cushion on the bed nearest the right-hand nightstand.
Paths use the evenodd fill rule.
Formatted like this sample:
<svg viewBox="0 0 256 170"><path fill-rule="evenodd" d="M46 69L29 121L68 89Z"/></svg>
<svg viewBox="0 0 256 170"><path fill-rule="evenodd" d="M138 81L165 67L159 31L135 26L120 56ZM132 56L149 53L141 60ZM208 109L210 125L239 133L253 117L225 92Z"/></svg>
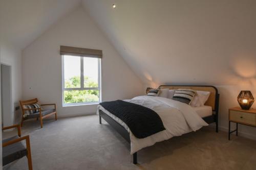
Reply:
<svg viewBox="0 0 256 170"><path fill-rule="evenodd" d="M178 89L175 91L174 96L173 96L173 100L182 102L182 103L186 103L186 104L190 104L192 99L194 98L196 94L195 90L191 90L191 89Z"/></svg>

